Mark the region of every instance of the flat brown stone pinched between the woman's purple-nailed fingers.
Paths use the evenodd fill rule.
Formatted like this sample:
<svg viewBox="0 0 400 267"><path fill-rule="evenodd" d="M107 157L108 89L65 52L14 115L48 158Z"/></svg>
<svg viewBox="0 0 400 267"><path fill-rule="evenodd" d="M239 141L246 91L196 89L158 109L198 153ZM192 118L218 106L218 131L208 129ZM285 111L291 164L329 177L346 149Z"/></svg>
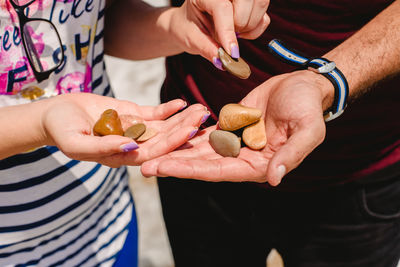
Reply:
<svg viewBox="0 0 400 267"><path fill-rule="evenodd" d="M220 47L218 55L222 62L222 66L231 74L240 79L247 79L251 74L249 65L242 58L232 58L226 51Z"/></svg>

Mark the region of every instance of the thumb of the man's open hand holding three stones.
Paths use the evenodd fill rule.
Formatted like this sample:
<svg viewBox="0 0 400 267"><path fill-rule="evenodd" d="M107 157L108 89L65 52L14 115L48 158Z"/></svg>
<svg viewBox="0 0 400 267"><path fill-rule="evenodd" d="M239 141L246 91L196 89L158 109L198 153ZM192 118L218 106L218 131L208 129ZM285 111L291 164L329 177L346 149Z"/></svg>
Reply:
<svg viewBox="0 0 400 267"><path fill-rule="evenodd" d="M267 169L268 183L276 186L282 177L296 168L304 158L310 154L325 137L325 124L318 122L307 125L289 137L273 155Z"/></svg>

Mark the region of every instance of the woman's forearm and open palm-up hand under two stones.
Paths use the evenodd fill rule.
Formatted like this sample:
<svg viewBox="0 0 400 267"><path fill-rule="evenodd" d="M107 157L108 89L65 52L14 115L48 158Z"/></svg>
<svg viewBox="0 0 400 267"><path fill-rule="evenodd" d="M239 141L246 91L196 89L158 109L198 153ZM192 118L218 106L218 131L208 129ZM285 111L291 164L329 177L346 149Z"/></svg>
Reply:
<svg viewBox="0 0 400 267"><path fill-rule="evenodd" d="M57 146L68 157L109 166L140 165L185 143L203 122L202 105L177 99L156 107L138 106L94 94L65 94L34 103L0 108L0 159L43 145ZM157 135L138 145L119 135L94 136L95 122L106 109L141 117ZM121 119L126 130L132 122ZM132 151L134 150L134 151Z"/></svg>

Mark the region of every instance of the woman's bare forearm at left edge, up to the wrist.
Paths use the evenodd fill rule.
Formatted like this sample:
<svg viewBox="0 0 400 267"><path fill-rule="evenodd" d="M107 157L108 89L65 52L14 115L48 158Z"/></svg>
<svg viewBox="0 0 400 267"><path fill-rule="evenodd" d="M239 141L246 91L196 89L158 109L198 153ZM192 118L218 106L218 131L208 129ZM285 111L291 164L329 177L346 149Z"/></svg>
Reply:
<svg viewBox="0 0 400 267"><path fill-rule="evenodd" d="M0 108L0 159L45 145L41 117L47 101Z"/></svg>

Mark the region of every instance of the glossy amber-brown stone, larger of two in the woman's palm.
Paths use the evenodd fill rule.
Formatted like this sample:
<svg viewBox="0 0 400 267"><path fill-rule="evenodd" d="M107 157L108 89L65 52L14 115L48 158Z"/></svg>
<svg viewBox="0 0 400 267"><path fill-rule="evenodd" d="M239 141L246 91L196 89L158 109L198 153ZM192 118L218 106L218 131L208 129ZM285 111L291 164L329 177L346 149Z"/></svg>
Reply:
<svg viewBox="0 0 400 267"><path fill-rule="evenodd" d="M123 135L121 120L118 113L113 109L107 109L101 114L100 119L93 127L93 132L96 135Z"/></svg>

